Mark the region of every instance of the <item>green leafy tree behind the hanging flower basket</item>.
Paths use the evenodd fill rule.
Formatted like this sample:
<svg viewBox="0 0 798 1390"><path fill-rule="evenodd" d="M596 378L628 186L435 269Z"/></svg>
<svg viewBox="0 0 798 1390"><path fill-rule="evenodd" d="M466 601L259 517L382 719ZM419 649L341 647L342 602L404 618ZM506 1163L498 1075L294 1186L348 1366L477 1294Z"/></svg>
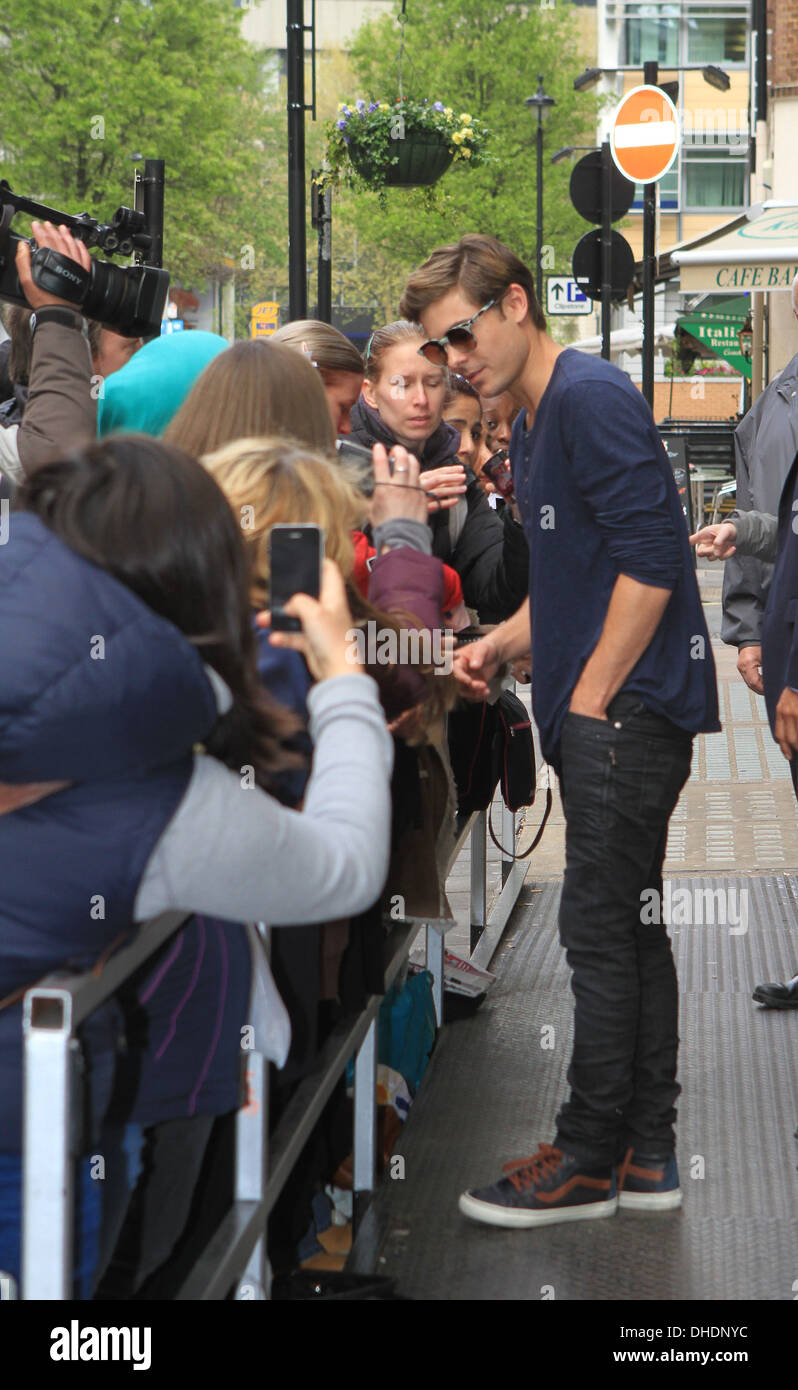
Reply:
<svg viewBox="0 0 798 1390"><path fill-rule="evenodd" d="M399 95L400 4L395 17L367 22L350 61L357 89L339 100L395 101ZM571 163L551 165L564 145L592 145L596 99L573 90L584 67L584 11L571 4L538 7L505 0L409 0L402 86L409 97L442 101L489 128L492 160L480 168L456 161L430 197L427 190L335 196L334 261L350 259L356 235L359 278L378 286L381 304L396 304L407 272L434 246L464 232L489 232L534 267L537 238L537 114L524 107L544 74L556 106L544 126L544 268L569 272L573 249L588 229L569 197ZM349 293L352 275L348 277ZM356 291L355 291L356 292Z"/></svg>

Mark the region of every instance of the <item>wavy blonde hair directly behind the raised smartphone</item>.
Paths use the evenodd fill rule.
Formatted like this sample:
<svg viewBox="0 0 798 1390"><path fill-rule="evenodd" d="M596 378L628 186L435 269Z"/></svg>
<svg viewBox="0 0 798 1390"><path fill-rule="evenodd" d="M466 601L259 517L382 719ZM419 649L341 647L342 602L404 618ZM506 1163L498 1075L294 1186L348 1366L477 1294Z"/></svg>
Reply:
<svg viewBox="0 0 798 1390"><path fill-rule="evenodd" d="M348 580L355 564L352 531L366 498L324 453L282 438L236 439L202 463L225 493L252 555L252 602L268 599L268 535L274 525L311 521L324 531L324 553Z"/></svg>

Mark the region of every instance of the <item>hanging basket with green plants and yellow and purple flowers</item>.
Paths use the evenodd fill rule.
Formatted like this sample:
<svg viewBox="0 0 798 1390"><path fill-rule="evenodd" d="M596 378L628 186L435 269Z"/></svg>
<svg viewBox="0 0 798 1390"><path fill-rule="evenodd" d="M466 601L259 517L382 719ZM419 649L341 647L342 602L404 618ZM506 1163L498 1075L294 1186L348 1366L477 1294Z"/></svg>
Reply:
<svg viewBox="0 0 798 1390"><path fill-rule="evenodd" d="M453 163L485 163L487 135L481 121L442 101L342 101L327 128L323 183L430 188Z"/></svg>

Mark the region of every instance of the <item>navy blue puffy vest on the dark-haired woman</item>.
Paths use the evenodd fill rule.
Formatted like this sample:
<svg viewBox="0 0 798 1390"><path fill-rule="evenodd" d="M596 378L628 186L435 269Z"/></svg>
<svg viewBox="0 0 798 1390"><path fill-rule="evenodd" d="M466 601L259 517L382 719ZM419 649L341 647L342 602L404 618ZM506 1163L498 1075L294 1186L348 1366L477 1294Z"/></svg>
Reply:
<svg viewBox="0 0 798 1390"><path fill-rule="evenodd" d="M217 717L202 660L129 589L29 513L0 545L0 781L68 780L0 816L0 1002L89 967L133 924L146 863ZM104 1111L120 1013L82 1030ZM21 1005L0 1008L0 1150L21 1143Z"/></svg>

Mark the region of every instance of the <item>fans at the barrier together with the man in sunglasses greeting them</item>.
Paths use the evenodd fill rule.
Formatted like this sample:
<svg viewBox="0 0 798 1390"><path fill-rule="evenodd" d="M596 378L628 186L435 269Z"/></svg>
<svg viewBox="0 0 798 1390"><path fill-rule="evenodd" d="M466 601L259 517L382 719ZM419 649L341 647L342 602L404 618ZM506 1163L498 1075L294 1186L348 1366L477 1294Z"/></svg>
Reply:
<svg viewBox="0 0 798 1390"><path fill-rule="evenodd" d="M86 265L65 228L33 234ZM567 819L574 1054L555 1143L460 1209L535 1226L678 1205L677 981L640 902L692 737L720 726L640 392L549 338L528 267L488 236L434 252L363 359L316 321L124 339L28 256L0 428L0 1270L19 1277L25 990L190 913L81 1029L75 1289L170 1295L224 1212L242 1033L275 1065L277 1119L341 1011L382 992L388 903L448 919L452 766L470 781L513 663ZM324 532L320 592L271 631L270 537L299 523ZM370 624L389 660L353 642ZM409 630L453 634L445 670ZM342 1156L318 1137L281 1252Z"/></svg>

